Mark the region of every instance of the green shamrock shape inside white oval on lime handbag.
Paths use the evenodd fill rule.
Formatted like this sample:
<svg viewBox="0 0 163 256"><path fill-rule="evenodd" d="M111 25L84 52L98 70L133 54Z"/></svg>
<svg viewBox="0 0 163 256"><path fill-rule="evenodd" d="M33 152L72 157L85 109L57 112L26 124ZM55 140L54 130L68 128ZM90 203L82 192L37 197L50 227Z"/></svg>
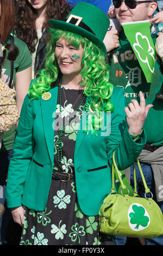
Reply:
<svg viewBox="0 0 163 256"><path fill-rule="evenodd" d="M145 209L142 206L133 205L134 212L130 212L129 217L131 224L136 224L135 229L139 229L139 225L147 227L149 218L145 216Z"/></svg>

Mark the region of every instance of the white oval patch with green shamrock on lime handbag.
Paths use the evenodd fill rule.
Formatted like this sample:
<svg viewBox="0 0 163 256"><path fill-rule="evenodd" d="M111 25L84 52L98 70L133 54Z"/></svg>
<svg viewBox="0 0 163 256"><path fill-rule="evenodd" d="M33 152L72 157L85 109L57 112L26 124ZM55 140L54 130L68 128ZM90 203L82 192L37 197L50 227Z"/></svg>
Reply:
<svg viewBox="0 0 163 256"><path fill-rule="evenodd" d="M141 231L148 227L150 223L150 217L141 204L131 204L128 210L129 227L134 231Z"/></svg>

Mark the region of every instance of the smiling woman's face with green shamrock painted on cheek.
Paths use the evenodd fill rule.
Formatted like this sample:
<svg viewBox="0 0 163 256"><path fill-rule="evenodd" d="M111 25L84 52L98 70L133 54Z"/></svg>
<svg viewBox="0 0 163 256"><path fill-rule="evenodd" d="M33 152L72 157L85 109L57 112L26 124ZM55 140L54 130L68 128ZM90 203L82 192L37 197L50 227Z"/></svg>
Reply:
<svg viewBox="0 0 163 256"><path fill-rule="evenodd" d="M82 70L83 47L77 49L68 44L66 39L60 38L56 42L55 56L62 74L77 76Z"/></svg>

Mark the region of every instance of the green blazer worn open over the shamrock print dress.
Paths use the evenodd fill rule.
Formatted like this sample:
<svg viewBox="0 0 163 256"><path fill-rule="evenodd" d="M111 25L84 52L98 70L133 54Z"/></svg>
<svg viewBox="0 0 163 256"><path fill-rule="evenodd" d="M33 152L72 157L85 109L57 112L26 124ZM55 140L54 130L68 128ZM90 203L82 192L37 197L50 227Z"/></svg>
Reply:
<svg viewBox="0 0 163 256"><path fill-rule="evenodd" d="M46 208L54 166L53 127L58 87L49 92L49 100L40 96L39 100L30 101L28 95L24 99L8 172L8 208L21 205L36 211ZM78 204L89 216L98 215L104 198L110 193L113 151L116 149L115 159L121 170L135 161L146 143L145 133L141 144L136 144L128 133L122 88L114 87L111 102L115 110L105 114L109 129L103 129L103 125L97 136L91 136L91 131L87 134L82 129L77 133L74 170ZM85 124L83 119L84 114L80 125Z"/></svg>

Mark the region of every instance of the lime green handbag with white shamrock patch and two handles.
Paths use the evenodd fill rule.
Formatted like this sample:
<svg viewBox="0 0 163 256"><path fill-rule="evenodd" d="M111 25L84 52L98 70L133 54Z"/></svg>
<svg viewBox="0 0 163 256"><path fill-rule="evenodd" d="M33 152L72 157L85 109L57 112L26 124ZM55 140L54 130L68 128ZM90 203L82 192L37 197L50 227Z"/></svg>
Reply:
<svg viewBox="0 0 163 256"><path fill-rule="evenodd" d="M121 235L128 237L152 238L163 234L163 215L158 204L152 199L153 195L147 187L145 177L137 159L140 174L145 186L145 198L137 194L136 172L134 169L134 196L124 194L123 190L128 190L124 185L120 172L115 162L115 151L112 156L112 188L111 193L104 199L99 210L99 228L104 234ZM115 170L121 183L121 194L115 191ZM151 198L146 194L151 193Z"/></svg>

